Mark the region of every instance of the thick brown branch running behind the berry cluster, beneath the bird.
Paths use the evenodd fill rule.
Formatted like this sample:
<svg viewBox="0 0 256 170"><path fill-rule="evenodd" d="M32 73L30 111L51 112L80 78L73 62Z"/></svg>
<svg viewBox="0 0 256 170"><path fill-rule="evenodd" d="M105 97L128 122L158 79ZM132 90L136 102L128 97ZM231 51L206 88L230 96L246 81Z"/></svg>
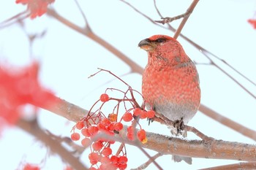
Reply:
<svg viewBox="0 0 256 170"><path fill-rule="evenodd" d="M59 100L59 104L51 107L45 107L50 112L56 111L57 115L67 117L72 121L79 121L81 113L87 113L88 111L80 107L70 104L68 101ZM62 104L63 103L63 104ZM75 109L71 109L70 107ZM72 116L70 116L72 114ZM86 116L86 115L83 115ZM23 128L20 126L20 128ZM124 127L124 129L127 127ZM30 131L33 131L31 128ZM138 129L137 129L138 130ZM32 132L31 132L32 133ZM38 133L38 132L37 132ZM129 141L127 139L127 131L121 131L120 136L117 136L117 140L125 142L134 146L138 146L138 142ZM119 139L118 139L119 137ZM214 158L214 159L230 159L239 161L256 161L256 146L254 144L244 144L239 142L226 142L222 140L211 140L203 142L200 140L185 140L171 136L163 136L160 134L154 134L147 132L148 142L146 144L140 144L140 147L147 148L149 150L155 150L161 152L164 155L182 155L193 158Z"/></svg>

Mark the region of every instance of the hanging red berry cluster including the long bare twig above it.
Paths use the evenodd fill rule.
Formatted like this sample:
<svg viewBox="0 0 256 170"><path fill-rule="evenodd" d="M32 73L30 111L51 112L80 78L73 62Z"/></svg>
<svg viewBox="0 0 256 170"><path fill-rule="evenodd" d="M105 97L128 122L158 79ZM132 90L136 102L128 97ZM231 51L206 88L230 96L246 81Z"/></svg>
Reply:
<svg viewBox="0 0 256 170"><path fill-rule="evenodd" d="M127 150L124 142L120 144L115 139L124 136L124 124L128 124L127 139L131 141L138 139L145 144L147 142L146 131L138 123L138 118L151 119L154 117L155 112L154 110L146 111L145 108L140 107L140 104L135 100L134 92L143 98L142 94L132 89L124 80L121 80L115 74L105 69L99 69L99 72L110 73L113 77L127 85L128 89L123 91L116 88L107 88L107 90L121 93L123 98L110 97L107 94L107 90L105 90L105 93L93 104L86 117L83 117L72 128L71 139L78 141L82 138L80 140L81 144L84 147L90 146L89 161L91 163L91 170L123 170L127 168ZM91 77L99 72L92 74ZM113 107L113 112L106 115L103 113L105 112L103 107L110 101L115 101L117 104ZM145 106L147 102L143 100L143 103L143 106ZM96 111L92 111L98 105L99 107L97 107ZM121 106L123 106L124 111L120 111ZM120 112L123 112L123 114L120 115ZM135 129L136 125L139 125L139 130ZM75 132L75 130L79 130L80 133ZM80 137L80 134L82 134L82 137ZM113 144L120 144L115 153Z"/></svg>

